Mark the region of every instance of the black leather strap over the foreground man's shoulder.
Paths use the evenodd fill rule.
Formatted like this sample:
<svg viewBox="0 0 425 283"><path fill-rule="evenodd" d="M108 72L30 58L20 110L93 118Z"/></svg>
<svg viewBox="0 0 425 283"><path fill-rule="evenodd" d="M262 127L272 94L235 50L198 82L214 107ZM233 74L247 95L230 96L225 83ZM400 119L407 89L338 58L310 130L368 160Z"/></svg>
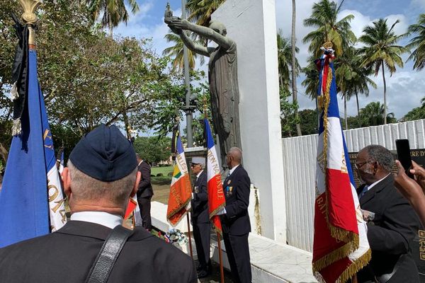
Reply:
<svg viewBox="0 0 425 283"><path fill-rule="evenodd" d="M116 226L111 231L91 266L86 283L106 283L108 281L113 265L115 265L118 255L120 255L125 242L132 233L132 230L121 225Z"/></svg>

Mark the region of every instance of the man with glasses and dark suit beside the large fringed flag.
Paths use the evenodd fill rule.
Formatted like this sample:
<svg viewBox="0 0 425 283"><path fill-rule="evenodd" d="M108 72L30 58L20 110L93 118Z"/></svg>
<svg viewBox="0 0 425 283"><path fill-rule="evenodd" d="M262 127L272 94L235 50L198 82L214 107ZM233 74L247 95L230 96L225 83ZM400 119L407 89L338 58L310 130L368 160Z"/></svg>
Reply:
<svg viewBox="0 0 425 283"><path fill-rule="evenodd" d="M419 219L394 187L393 165L391 152L379 145L366 146L356 159L363 182L357 190L361 209L374 214L368 221L372 259L358 272L359 283L419 282L411 248Z"/></svg>

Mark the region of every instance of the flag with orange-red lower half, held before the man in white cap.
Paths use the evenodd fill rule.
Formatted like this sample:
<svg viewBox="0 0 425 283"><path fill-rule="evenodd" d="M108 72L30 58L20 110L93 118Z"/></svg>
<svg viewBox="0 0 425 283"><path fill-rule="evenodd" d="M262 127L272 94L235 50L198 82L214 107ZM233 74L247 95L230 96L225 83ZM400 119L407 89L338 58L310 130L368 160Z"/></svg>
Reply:
<svg viewBox="0 0 425 283"><path fill-rule="evenodd" d="M179 224L188 212L191 202L192 187L189 178L186 157L180 134L176 137L176 160L174 161L173 178L171 179L170 196L166 210L166 219L172 226Z"/></svg>

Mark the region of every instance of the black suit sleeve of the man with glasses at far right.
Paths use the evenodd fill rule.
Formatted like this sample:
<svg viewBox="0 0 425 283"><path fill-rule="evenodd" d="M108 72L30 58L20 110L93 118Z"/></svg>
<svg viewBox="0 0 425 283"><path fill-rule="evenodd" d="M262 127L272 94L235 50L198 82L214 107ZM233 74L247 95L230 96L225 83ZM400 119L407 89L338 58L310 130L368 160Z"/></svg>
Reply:
<svg viewBox="0 0 425 283"><path fill-rule="evenodd" d="M368 241L372 250L397 255L408 252L419 223L412 207L395 189L392 196L382 216L382 225L368 225Z"/></svg>

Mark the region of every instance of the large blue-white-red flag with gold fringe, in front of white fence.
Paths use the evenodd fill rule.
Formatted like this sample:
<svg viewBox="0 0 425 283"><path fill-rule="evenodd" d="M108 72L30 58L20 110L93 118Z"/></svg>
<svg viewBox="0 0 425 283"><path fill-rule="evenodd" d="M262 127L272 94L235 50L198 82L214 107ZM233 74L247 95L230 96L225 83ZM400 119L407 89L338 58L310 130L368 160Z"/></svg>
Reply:
<svg viewBox="0 0 425 283"><path fill-rule="evenodd" d="M346 282L368 264L370 248L336 98L334 50L327 42L316 61L319 142L312 267L319 282Z"/></svg>

